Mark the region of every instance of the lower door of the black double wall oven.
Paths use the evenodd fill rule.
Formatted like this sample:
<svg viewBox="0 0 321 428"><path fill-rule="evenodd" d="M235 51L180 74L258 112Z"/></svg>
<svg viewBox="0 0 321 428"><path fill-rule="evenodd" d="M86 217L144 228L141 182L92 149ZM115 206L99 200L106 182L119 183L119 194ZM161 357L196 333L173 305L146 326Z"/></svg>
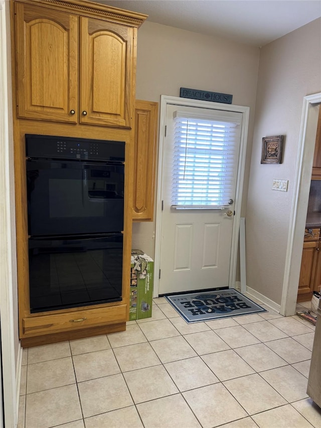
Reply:
<svg viewBox="0 0 321 428"><path fill-rule="evenodd" d="M29 239L31 313L121 301L122 233Z"/></svg>

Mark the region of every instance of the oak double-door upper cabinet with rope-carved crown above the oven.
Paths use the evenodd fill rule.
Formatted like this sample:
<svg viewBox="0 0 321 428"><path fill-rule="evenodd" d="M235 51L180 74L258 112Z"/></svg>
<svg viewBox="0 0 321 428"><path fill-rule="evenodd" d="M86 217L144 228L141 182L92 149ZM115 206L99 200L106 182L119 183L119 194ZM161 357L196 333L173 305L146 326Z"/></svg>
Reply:
<svg viewBox="0 0 321 428"><path fill-rule="evenodd" d="M145 16L75 0L15 8L18 116L130 128Z"/></svg>

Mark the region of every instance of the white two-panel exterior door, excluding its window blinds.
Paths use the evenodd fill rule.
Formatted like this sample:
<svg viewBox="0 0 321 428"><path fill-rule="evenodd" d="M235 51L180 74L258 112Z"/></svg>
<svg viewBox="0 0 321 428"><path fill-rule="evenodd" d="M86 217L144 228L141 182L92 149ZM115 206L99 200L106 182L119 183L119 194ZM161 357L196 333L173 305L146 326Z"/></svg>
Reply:
<svg viewBox="0 0 321 428"><path fill-rule="evenodd" d="M220 120L220 117L226 118L228 115L233 115L237 116L240 124L235 124L233 127L235 145L233 144L232 147L234 150L231 150L232 147L229 146L230 150L226 151L225 156L221 155L222 158L219 161L220 165L223 165L224 160L225 162L227 160L226 156L231 158L230 162L233 160L233 164L229 164L229 168L231 168L232 171L235 171L235 174L233 176L233 173L231 173L231 181L226 180L226 178L224 179L224 183L226 183L225 186L229 187L228 199L233 202L229 205L225 205L224 208L222 207L216 209L175 209L172 206L173 201L171 200L174 168L173 160L175 159L174 117L177 112L177 105L167 105L167 132L164 153L165 163L163 170L164 186L160 260L162 273L161 277L159 278L158 290L160 295L229 286L230 254L234 215L228 216L227 213L231 214L231 212L234 211L236 171L239 158L242 114L227 114L226 111L212 109L211 104L206 110L204 108L200 109L197 107L180 106L179 112L184 117L204 117L205 120ZM230 120L232 120L232 118ZM201 126L201 128L202 130L204 129L203 126ZM181 141L181 138L179 138L179 141ZM181 143L180 147L182 147ZM183 153L181 154L183 158L186 156L185 151L186 148L184 148L183 143ZM205 154L204 156L205 158L203 158L202 155L202 159L207 159L207 155ZM196 157L196 159L199 159L199 157ZM201 165L203 165L203 162ZM194 168L198 167L194 166ZM184 173L182 171L182 175L183 174L185 177L185 168ZM219 176L220 173L218 173L217 178L219 178ZM189 179L187 179L187 181L189 181ZM185 189L185 186L182 187L183 191L187 191L189 195L190 191ZM192 192L193 189L194 186L192 185ZM212 197L210 195L208 196L211 199L214 197L214 195ZM206 195L204 195L204 198L206 198Z"/></svg>

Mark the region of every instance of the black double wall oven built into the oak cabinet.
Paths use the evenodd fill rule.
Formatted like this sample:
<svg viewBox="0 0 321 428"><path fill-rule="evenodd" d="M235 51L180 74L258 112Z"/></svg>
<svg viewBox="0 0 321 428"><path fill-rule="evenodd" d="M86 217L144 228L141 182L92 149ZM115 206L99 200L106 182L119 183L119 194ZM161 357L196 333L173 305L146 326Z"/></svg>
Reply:
<svg viewBox="0 0 321 428"><path fill-rule="evenodd" d="M121 300L125 143L26 134L31 313Z"/></svg>

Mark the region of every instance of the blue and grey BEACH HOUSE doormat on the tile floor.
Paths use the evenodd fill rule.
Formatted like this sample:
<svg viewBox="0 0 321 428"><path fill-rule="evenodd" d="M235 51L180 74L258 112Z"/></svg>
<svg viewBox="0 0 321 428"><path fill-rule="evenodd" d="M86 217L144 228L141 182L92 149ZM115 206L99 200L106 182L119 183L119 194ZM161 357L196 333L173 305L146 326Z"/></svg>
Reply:
<svg viewBox="0 0 321 428"><path fill-rule="evenodd" d="M187 323L267 312L235 289L164 297Z"/></svg>

